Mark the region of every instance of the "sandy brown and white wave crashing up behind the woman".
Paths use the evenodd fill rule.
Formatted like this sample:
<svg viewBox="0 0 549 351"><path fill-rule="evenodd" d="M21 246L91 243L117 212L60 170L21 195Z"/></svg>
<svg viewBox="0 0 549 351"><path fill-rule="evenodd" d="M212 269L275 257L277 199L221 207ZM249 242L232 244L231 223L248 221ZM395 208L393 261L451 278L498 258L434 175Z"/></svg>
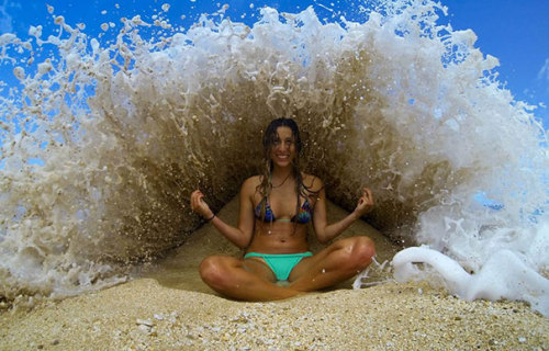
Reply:
<svg viewBox="0 0 549 351"><path fill-rule="evenodd" d="M0 36L2 301L124 281L200 226L194 189L221 208L262 128L292 116L328 197L350 210L371 188L368 220L410 247L396 280L549 315L547 135L472 31L432 1L212 7L182 27L158 3L99 33L49 8L56 31Z"/></svg>

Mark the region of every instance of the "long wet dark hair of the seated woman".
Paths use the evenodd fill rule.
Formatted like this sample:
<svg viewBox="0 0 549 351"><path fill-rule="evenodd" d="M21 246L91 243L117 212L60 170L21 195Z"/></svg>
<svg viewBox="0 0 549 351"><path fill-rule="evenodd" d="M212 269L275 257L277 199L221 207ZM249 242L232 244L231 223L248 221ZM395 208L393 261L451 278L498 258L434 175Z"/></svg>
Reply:
<svg viewBox="0 0 549 351"><path fill-rule="evenodd" d="M293 166L293 177L295 179L295 193L298 194L298 202L295 204L295 213L299 213L300 210L300 199L307 197L307 193L305 192L306 188L303 184L303 176L301 174L300 169L300 156L302 152L302 143L300 136L300 129L298 124L292 118L280 117L271 121L267 126L267 129L264 133L262 145L264 145L264 160L262 160L262 177L261 183L257 186L257 190L261 194L261 217L265 218L265 208L267 205L267 196L272 190L271 182L271 172L272 172L272 160L271 160L271 150L274 146L274 141L279 139L277 129L279 127L289 127L292 129L293 143L295 145L295 157L292 160Z"/></svg>

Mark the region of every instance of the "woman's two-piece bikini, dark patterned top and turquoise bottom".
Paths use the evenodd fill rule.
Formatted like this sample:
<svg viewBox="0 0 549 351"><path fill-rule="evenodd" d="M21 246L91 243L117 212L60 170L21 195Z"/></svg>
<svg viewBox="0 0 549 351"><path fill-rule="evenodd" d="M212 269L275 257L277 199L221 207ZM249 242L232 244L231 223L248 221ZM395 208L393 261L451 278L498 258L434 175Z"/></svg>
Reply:
<svg viewBox="0 0 549 351"><path fill-rule="evenodd" d="M255 211L256 218L261 219L261 206L262 202L260 202ZM269 205L269 202L265 202L265 218L264 222L295 222L298 224L306 224L312 219L313 208L311 204L305 199L305 202L300 207L300 211L296 215L294 215L291 219L280 218L277 219L274 217L274 213ZM313 256L313 252L299 252L299 253L282 253L282 254L272 254L272 253L259 253L259 252L248 252L244 256L245 259L250 257L258 257L265 260L267 265L274 273L274 276L278 281L287 281L290 276L291 271L298 265L298 263L305 257Z"/></svg>

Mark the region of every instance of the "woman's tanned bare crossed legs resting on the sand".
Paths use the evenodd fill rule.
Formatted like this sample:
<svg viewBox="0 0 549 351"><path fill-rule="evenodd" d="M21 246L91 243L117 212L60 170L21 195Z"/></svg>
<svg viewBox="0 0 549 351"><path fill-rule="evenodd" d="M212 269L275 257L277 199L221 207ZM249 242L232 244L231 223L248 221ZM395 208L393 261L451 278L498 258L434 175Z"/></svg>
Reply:
<svg viewBox="0 0 549 351"><path fill-rule="evenodd" d="M202 280L216 292L244 301L272 301L335 285L366 269L376 254L373 241L363 236L337 240L291 271L287 286L259 258L211 256L200 264Z"/></svg>

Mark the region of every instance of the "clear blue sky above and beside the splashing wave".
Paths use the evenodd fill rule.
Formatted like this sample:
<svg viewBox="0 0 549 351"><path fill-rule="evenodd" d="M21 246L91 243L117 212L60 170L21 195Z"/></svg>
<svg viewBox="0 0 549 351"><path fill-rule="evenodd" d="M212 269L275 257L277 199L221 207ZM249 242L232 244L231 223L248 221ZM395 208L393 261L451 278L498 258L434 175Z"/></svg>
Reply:
<svg viewBox="0 0 549 351"><path fill-rule="evenodd" d="M250 8L250 2L254 3ZM25 37L30 25L52 25L52 15L46 3L55 8L55 14L64 15L67 23L85 23L90 35L102 32L101 24L120 23L121 16L139 13L152 14L160 10L164 3L170 3L172 23L179 21L189 25L198 13L214 12L219 4L228 3L228 15L233 20L246 13L246 19L254 21L253 13L264 4L281 11L304 9L307 4L354 3L361 1L204 1L204 0L120 0L120 1L81 1L81 0L0 0L0 34L10 32ZM477 47L484 54L500 59L500 80L506 83L517 100L530 104L549 105L549 1L548 0L441 0L449 8L448 21L456 30L472 29L479 39ZM320 8L322 11L322 8ZM177 14L177 15L176 15ZM186 14L181 21L180 15ZM322 18L323 14L320 14ZM0 75L3 72L0 70ZM3 77L0 79L3 80ZM549 129L549 107L538 109L535 114L544 120Z"/></svg>

